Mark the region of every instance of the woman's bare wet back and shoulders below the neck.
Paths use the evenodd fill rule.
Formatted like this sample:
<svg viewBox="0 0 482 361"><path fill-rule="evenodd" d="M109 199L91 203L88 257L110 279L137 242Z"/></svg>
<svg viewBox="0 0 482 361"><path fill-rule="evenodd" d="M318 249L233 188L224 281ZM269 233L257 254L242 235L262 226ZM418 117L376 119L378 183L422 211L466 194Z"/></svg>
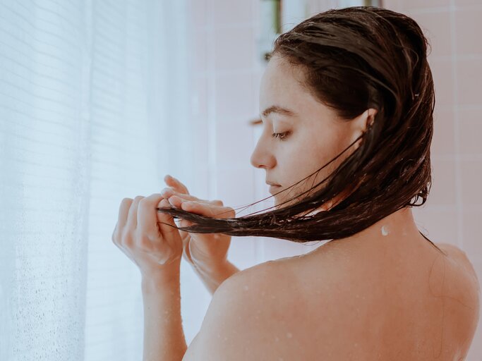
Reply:
<svg viewBox="0 0 482 361"><path fill-rule="evenodd" d="M349 360L355 354L373 360L375 347L387 356L383 360L413 360L422 351L431 355L432 345L423 350L410 345L420 339L439 342L440 327L444 344L469 347L479 288L462 250L437 243L447 257L426 247L427 252L415 249L404 258L393 251L387 259L370 247L350 253L335 246L324 245L318 256L258 264L224 281L183 360L331 360L332 355ZM438 286L445 287L440 292L454 302L438 302L428 286L435 295ZM416 293L409 291L414 288ZM397 352L399 358L393 357Z"/></svg>

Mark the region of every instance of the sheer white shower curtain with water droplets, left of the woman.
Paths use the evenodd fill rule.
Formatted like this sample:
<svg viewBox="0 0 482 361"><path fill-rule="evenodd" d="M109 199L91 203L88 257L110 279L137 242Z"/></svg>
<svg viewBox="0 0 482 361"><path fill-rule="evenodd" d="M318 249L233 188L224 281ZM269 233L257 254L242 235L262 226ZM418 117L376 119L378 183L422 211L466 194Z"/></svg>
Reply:
<svg viewBox="0 0 482 361"><path fill-rule="evenodd" d="M123 197L193 177L186 26L185 1L0 1L0 360L141 360L111 235Z"/></svg>

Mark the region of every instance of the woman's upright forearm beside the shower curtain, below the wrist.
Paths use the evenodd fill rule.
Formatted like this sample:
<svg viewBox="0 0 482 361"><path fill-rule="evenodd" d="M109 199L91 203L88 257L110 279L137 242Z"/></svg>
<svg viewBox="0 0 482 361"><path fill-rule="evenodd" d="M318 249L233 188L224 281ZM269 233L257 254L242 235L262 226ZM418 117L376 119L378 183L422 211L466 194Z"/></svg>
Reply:
<svg viewBox="0 0 482 361"><path fill-rule="evenodd" d="M159 281L143 277L143 361L181 361L187 350L181 320L179 278Z"/></svg>

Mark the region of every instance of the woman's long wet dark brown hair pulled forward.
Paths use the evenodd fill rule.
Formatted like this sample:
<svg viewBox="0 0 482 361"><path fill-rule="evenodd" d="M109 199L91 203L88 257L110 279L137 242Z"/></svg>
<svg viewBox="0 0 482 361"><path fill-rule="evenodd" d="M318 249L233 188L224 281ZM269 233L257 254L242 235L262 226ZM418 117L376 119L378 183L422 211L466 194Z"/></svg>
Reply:
<svg viewBox="0 0 482 361"><path fill-rule="evenodd" d="M211 218L174 207L158 212L193 222L179 227L183 231L305 243L347 238L403 207L423 205L431 185L435 106L428 45L413 19L373 6L330 9L279 35L271 56L299 66L306 89L341 118L350 121L366 109L377 109L373 123L355 140L361 139L359 147L285 207L236 218ZM313 214L346 190L349 195L341 202Z"/></svg>

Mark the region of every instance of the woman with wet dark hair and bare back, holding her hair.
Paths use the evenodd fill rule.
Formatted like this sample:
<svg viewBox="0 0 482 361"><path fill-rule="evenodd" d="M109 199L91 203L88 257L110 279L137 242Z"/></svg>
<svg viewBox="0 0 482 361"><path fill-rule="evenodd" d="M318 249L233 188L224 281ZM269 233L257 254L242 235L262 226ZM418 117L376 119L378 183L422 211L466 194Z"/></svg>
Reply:
<svg viewBox="0 0 482 361"><path fill-rule="evenodd" d="M414 20L382 8L303 21L276 40L260 85L251 163L275 209L236 218L171 177L123 200L113 240L143 274L145 360L464 360L475 271L411 214L430 188L426 45ZM238 272L231 235L332 241ZM181 255L214 293L187 351Z"/></svg>

